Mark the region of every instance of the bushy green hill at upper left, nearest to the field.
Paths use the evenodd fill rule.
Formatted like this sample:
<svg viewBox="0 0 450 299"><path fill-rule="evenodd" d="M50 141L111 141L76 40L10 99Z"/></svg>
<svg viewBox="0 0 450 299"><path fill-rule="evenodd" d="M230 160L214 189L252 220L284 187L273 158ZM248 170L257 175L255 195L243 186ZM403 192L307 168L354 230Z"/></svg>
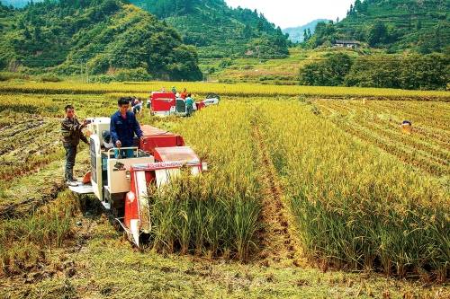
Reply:
<svg viewBox="0 0 450 299"><path fill-rule="evenodd" d="M202 78L195 49L175 30L119 0L45 1L23 10L2 6L0 24L0 66L10 70Z"/></svg>

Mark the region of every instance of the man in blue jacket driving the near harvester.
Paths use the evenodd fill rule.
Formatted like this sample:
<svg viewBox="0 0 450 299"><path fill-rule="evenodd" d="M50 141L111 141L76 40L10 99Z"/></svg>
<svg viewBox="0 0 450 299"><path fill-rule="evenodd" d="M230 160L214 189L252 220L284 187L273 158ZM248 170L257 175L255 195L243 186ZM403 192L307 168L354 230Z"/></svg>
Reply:
<svg viewBox="0 0 450 299"><path fill-rule="evenodd" d="M112 144L115 148L120 149L121 147L132 147L134 146L134 135L139 138L142 137L142 131L138 120L134 113L129 111L130 101L127 98L121 98L118 101L119 110L115 112L111 117L111 137ZM116 150L116 158L118 156L125 156L131 158L133 156L133 150Z"/></svg>

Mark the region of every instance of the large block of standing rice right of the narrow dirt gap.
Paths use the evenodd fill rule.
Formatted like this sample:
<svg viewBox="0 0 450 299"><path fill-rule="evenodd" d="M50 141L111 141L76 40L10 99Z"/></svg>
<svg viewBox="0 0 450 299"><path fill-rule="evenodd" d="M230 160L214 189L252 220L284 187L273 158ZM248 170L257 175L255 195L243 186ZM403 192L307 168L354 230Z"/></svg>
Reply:
<svg viewBox="0 0 450 299"><path fill-rule="evenodd" d="M300 102L265 102L262 129L311 258L401 277L450 260L448 181L358 142Z"/></svg>

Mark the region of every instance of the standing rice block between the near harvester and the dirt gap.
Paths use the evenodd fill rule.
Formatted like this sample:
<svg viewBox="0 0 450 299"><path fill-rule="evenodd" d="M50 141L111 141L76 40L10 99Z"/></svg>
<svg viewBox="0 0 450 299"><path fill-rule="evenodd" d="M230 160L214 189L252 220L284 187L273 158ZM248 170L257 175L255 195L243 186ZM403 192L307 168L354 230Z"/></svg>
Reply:
<svg viewBox="0 0 450 299"><path fill-rule="evenodd" d="M257 249L261 192L246 115L246 105L224 103L175 126L209 171L148 192L158 251L248 259Z"/></svg>

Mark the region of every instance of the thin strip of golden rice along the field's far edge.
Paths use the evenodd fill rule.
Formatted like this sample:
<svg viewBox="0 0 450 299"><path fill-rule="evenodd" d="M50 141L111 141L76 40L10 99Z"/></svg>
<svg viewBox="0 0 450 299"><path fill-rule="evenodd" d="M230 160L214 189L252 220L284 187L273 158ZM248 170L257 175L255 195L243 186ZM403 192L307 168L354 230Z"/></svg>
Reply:
<svg viewBox="0 0 450 299"><path fill-rule="evenodd" d="M187 88L189 92L217 93L232 96L315 96L315 97L369 97L378 99L418 99L420 101L450 101L450 92L405 91L394 89L359 88L359 87L324 87L324 86L287 86L261 84L217 84L217 83L112 83L112 84L81 84L75 82L60 83L2 83L0 92L23 93L148 93L160 91L163 87L171 90Z"/></svg>

